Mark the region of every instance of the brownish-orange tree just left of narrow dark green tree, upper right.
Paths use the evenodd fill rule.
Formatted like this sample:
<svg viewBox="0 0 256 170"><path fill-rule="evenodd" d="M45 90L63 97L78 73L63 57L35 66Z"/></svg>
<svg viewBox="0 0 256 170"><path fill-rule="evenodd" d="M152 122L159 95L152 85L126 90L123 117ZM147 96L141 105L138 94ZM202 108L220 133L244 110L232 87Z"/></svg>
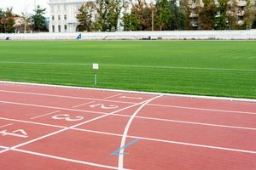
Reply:
<svg viewBox="0 0 256 170"><path fill-rule="evenodd" d="M214 0L203 0L203 7L199 9L200 26L204 30L212 30L215 26L217 7Z"/></svg>

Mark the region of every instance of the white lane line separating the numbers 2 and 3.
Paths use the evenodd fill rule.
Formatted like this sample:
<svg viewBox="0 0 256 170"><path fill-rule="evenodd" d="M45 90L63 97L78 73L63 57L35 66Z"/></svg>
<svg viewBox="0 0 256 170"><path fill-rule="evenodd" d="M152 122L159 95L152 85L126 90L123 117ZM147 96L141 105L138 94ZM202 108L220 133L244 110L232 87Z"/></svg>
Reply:
<svg viewBox="0 0 256 170"><path fill-rule="evenodd" d="M54 107L54 106L48 106L48 105L32 105L32 104L25 104L25 103L18 103L18 102L10 102L10 101L2 101L2 102L6 104L13 104L13 105L26 105L26 106L42 107L42 108L49 108L49 109L55 109L55 110L79 111L84 113L96 113L101 115L108 115L108 113L100 112L100 111L84 111L84 110L69 109L69 108L63 108L63 107Z"/></svg>

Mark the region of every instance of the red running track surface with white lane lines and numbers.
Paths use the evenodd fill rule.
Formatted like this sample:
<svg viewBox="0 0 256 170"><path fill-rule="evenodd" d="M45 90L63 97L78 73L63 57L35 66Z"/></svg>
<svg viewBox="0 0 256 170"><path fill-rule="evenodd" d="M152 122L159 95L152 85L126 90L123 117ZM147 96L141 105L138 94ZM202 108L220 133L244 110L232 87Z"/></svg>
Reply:
<svg viewBox="0 0 256 170"><path fill-rule="evenodd" d="M0 83L0 163L255 170L256 103Z"/></svg>

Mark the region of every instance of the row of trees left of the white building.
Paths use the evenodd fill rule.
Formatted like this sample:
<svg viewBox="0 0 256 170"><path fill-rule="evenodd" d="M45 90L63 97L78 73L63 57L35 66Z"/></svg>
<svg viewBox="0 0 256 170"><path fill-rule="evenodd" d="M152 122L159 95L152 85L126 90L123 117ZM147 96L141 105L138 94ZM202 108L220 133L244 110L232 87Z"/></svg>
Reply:
<svg viewBox="0 0 256 170"><path fill-rule="evenodd" d="M45 10L38 6L34 10L34 14L22 13L21 15L15 14L13 8L0 8L0 33L13 33L15 32L15 17L21 18L20 26L23 31L47 31L45 21Z"/></svg>

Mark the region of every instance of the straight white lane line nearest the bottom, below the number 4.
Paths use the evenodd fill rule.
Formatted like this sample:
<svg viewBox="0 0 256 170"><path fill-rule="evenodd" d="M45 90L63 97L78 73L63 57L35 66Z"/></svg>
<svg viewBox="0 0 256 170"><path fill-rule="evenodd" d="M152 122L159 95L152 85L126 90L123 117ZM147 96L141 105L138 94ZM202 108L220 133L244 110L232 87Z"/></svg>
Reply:
<svg viewBox="0 0 256 170"><path fill-rule="evenodd" d="M47 155L47 154L33 152L33 151L28 151L28 150L20 150L20 149L11 149L11 150L15 150L15 151L18 151L18 152L22 152L22 153L26 153L26 154L31 154L31 155L35 155L35 156L48 157L48 158L51 158L51 159L56 159L56 160L61 160L61 161L75 162L75 163L89 165L89 166L93 166L93 167L103 167L103 168L108 168L108 169L118 169L118 167L112 167L112 166L102 165L102 164L98 164L98 163L92 163L92 162L89 162L89 161L73 160L73 159L69 159L69 158L65 158L65 157L60 157L60 156L50 156L50 155Z"/></svg>

